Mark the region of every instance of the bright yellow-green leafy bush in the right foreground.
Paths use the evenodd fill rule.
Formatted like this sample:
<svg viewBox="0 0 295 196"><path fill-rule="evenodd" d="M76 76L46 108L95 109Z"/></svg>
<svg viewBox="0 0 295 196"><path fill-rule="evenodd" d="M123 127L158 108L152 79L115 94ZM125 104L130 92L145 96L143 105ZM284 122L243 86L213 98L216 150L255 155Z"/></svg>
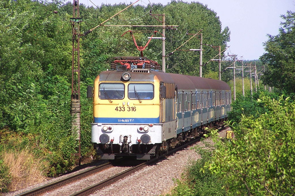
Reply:
<svg viewBox="0 0 295 196"><path fill-rule="evenodd" d="M295 193L295 103L260 96L266 112L257 118L242 115L231 128L235 138L216 142L212 161L206 167L224 176L229 192L237 195L294 195Z"/></svg>

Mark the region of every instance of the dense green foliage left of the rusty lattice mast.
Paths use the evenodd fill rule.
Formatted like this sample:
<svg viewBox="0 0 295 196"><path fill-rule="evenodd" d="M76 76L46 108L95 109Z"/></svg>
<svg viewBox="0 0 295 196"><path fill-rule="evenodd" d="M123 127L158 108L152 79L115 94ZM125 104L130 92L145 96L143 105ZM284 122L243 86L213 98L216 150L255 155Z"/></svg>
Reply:
<svg viewBox="0 0 295 196"><path fill-rule="evenodd" d="M47 175L73 164L69 15L32 1L0 1L0 150L28 148Z"/></svg>

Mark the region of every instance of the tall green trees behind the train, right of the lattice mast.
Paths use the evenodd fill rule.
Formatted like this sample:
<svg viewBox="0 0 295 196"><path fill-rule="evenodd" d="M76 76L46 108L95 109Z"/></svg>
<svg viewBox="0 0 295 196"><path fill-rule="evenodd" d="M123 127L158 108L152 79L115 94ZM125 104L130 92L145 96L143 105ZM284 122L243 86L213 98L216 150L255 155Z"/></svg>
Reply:
<svg viewBox="0 0 295 196"><path fill-rule="evenodd" d="M114 6L102 5L99 9L93 7L85 8L80 6L81 17L83 18L83 30L93 28L94 24L99 24L124 9L125 4ZM213 46L221 46L221 50L226 47L230 40L230 31L228 27L221 29L221 22L216 13L200 3L185 3L182 1L172 1L166 6L162 4L153 4L143 6L133 6L107 21L104 25L162 25L161 22L150 16L152 14L165 14L166 25L178 25L177 29L166 29L166 55L181 46L192 35L187 33L197 33L200 30L203 33L203 43ZM183 14L186 13L186 14ZM160 21L162 16L156 16ZM140 52L136 50L128 30L149 30L162 33L161 27L117 27L103 26L83 37L83 77L96 77L101 70L108 68L105 61L111 60L114 56L139 56ZM153 33L134 33L138 46L145 46L149 36ZM159 33L156 36L161 36ZM99 46L99 47L97 47ZM162 63L162 41L152 39L148 47L143 51L143 55ZM191 39L180 49L188 50L200 48L198 36ZM218 54L218 51L211 46L203 46L203 62L208 62ZM182 73L199 76L199 52L198 51L176 51L166 58L166 71L173 73ZM222 54L223 56L223 54ZM204 64L203 63L203 64ZM210 62L203 66L203 74L210 71L218 71L218 62ZM85 79L86 79L85 78Z"/></svg>

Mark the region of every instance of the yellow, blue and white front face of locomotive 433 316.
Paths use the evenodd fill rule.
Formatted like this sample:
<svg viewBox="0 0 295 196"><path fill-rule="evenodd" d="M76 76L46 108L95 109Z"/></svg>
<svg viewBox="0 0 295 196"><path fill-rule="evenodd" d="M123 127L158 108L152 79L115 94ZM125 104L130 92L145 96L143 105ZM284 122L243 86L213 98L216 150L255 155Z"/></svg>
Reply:
<svg viewBox="0 0 295 196"><path fill-rule="evenodd" d="M162 142L160 82L149 69L103 71L94 81L91 141L102 159L150 159Z"/></svg>

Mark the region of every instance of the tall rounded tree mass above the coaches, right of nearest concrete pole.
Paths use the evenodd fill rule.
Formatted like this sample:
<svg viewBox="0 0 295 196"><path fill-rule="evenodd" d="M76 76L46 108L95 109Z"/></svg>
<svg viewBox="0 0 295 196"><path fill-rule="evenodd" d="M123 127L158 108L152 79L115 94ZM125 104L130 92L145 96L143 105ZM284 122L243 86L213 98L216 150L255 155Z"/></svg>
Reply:
<svg viewBox="0 0 295 196"><path fill-rule="evenodd" d="M164 7L163 13L166 14L166 24L179 25L178 32L170 30L166 33L166 46L170 52L191 37L187 36L186 33L197 33L200 30L203 33L204 44L220 45L221 50L224 50L227 41L230 40L229 28L221 29L221 22L219 17L216 16L216 12L199 2L185 3L182 1L172 1ZM200 48L200 40L197 37L191 39L181 49L188 50L194 48ZM203 50L203 64L218 54L218 51L211 46L204 45ZM200 54L196 51L176 51L168 58L166 63L169 66L168 71L198 76L199 57ZM210 62L203 66L204 74L218 70L218 62Z"/></svg>

